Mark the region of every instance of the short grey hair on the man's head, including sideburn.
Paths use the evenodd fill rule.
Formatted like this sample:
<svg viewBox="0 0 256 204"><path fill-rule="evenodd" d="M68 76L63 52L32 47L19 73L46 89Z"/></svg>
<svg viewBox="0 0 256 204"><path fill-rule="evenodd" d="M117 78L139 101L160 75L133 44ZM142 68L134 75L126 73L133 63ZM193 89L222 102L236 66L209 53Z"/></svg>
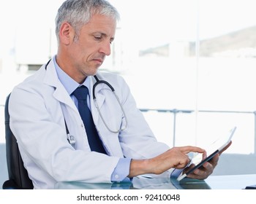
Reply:
<svg viewBox="0 0 256 204"><path fill-rule="evenodd" d="M56 36L59 43L59 31L61 24L69 23L75 29L75 39L78 39L80 29L89 22L94 14L108 15L119 20L119 14L115 7L105 0L67 0L59 7L55 23Z"/></svg>

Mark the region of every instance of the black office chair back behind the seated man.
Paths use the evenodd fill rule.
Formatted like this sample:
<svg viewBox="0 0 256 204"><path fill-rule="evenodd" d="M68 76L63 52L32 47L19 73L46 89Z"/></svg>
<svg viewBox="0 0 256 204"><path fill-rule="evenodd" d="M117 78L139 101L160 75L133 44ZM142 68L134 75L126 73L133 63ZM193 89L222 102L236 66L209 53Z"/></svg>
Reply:
<svg viewBox="0 0 256 204"><path fill-rule="evenodd" d="M33 189L32 181L24 168L23 160L15 136L10 130L10 115L8 111L10 95L7 96L4 108L5 117L5 140L7 154L7 168L9 180L3 184L3 189Z"/></svg>

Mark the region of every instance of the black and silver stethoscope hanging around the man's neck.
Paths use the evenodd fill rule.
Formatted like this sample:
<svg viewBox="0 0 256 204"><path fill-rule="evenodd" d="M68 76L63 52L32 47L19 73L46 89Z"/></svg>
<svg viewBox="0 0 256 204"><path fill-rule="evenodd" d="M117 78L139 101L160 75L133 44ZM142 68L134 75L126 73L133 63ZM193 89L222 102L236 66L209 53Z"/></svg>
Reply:
<svg viewBox="0 0 256 204"><path fill-rule="evenodd" d="M45 70L47 69L47 66L48 66L49 63L50 63L50 60L48 61L48 63L46 63ZM127 128L127 115L125 114L124 108L121 105L121 101L119 100L118 95L116 95L115 89L113 88L112 85L110 85L110 83L106 82L105 80L99 80L99 78L96 75L94 75L94 79L96 79L96 82L94 83L94 86L92 87L92 96L93 96L94 104L95 104L95 106L97 108L97 111L99 113L99 117L102 119L102 122L104 123L104 125L108 129L108 131L110 131L111 133L120 133L121 131L123 131L123 130L125 130ZM105 121L104 117L102 116L102 112L99 110L99 105L97 103L97 98L96 98L96 95L95 95L95 89L96 89L97 85L99 85L99 84L105 84L105 85L107 85L110 88L110 90L112 91L113 95L115 95L116 101L118 101L118 104L119 104L119 106L121 108L121 111L122 111L122 114L123 114L124 120L125 120L125 122L124 122L125 125L121 126L117 130L113 130L113 129L111 129L108 126L107 122ZM65 122L66 132L67 132L67 140L69 141L69 144L71 144L73 147L75 147L75 136L71 136L69 134L69 129L67 127L67 122L66 122L65 119L64 119L64 122Z"/></svg>

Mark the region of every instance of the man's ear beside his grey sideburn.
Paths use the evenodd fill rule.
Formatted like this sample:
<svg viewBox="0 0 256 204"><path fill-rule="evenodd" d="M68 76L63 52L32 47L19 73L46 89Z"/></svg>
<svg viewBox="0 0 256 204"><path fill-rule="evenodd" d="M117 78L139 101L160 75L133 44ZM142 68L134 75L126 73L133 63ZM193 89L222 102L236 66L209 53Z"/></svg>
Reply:
<svg viewBox="0 0 256 204"><path fill-rule="evenodd" d="M75 36L74 28L67 22L62 23L61 28L59 30L59 39L63 44L70 44L73 41Z"/></svg>

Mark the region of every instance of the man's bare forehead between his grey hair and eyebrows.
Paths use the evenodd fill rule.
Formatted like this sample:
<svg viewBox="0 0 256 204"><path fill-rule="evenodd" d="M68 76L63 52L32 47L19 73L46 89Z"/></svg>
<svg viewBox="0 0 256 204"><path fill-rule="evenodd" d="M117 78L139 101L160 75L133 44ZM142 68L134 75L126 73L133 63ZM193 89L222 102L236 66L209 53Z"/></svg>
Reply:
<svg viewBox="0 0 256 204"><path fill-rule="evenodd" d="M86 23L81 31L88 33L101 32L108 36L114 36L116 32L116 19L107 15L92 15L89 23Z"/></svg>

